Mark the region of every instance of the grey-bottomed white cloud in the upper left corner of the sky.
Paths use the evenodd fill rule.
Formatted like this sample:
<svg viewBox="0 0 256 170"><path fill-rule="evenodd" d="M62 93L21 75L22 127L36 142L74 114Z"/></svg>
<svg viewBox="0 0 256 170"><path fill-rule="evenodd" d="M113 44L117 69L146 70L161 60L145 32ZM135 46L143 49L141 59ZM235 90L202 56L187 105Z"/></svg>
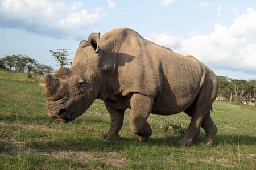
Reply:
<svg viewBox="0 0 256 170"><path fill-rule="evenodd" d="M67 5L52 0L2 0L0 25L52 37L85 36L84 31L105 16L100 8L89 12L81 1Z"/></svg>

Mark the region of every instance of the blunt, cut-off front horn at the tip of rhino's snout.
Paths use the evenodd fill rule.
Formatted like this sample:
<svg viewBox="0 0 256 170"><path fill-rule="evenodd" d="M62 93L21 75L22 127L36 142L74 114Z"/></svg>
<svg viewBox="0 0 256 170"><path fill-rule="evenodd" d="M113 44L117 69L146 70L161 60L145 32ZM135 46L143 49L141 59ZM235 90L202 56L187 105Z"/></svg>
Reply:
<svg viewBox="0 0 256 170"><path fill-rule="evenodd" d="M43 91L44 96L46 96L47 100L55 100L57 91L60 87L59 80L53 78L50 75L43 75L40 78L39 86Z"/></svg>

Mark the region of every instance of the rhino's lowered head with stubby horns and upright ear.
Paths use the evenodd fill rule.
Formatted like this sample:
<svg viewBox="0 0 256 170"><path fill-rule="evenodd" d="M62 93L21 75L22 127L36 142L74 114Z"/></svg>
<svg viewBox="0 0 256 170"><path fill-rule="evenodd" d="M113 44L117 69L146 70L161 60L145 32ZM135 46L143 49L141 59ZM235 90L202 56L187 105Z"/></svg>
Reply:
<svg viewBox="0 0 256 170"><path fill-rule="evenodd" d="M53 77L40 78L49 117L67 123L84 113L96 99L101 84L99 43L100 34L94 33L89 41L80 42L70 69L60 67Z"/></svg>

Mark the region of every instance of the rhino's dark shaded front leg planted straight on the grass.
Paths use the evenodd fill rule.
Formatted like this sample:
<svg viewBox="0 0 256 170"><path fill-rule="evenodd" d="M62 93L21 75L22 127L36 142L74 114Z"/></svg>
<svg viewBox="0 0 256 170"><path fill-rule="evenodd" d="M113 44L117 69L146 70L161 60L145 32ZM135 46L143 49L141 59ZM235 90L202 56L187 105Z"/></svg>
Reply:
<svg viewBox="0 0 256 170"><path fill-rule="evenodd" d="M102 134L102 138L119 139L118 132L123 126L124 111L113 108L108 102L105 102L111 118L110 129L107 133Z"/></svg>

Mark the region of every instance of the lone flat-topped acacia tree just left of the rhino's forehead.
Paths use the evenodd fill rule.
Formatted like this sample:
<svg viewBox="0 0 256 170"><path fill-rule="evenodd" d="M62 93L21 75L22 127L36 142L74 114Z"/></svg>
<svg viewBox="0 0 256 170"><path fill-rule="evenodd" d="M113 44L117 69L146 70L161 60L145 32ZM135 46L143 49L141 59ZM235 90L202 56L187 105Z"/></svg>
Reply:
<svg viewBox="0 0 256 170"><path fill-rule="evenodd" d="M65 67L69 65L69 59L67 58L71 54L69 49L57 49L56 51L49 50L52 53L52 57L57 61L57 66Z"/></svg>

